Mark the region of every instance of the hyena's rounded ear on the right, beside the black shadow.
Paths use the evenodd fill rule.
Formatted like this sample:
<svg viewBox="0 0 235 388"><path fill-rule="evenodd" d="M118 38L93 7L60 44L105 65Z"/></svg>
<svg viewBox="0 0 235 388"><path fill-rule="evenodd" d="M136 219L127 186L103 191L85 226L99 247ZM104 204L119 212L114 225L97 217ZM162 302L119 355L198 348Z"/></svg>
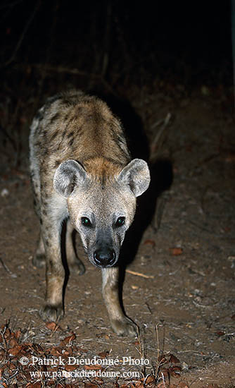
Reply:
<svg viewBox="0 0 235 388"><path fill-rule="evenodd" d="M148 164L142 159L133 159L122 169L118 181L129 185L136 197L143 194L150 183Z"/></svg>

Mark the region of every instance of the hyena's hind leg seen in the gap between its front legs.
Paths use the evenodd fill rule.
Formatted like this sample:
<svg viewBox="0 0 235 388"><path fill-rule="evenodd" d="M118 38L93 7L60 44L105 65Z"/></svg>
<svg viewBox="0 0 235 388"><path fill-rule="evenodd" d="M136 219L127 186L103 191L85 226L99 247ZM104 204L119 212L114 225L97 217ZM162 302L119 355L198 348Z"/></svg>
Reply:
<svg viewBox="0 0 235 388"><path fill-rule="evenodd" d="M74 228L70 222L70 219L68 219L67 227L66 227L66 241L65 241L68 266L71 272L75 272L79 275L83 275L85 272L85 267L82 261L77 257L75 253L75 247L72 240L73 231L74 231Z"/></svg>

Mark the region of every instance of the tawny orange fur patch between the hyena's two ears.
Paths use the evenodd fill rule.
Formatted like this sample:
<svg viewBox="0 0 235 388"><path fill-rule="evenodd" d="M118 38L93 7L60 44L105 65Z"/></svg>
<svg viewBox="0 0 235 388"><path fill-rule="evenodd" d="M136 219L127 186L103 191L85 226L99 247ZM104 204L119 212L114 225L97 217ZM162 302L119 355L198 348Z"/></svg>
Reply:
<svg viewBox="0 0 235 388"><path fill-rule="evenodd" d="M112 181L115 176L120 174L120 171L122 171L126 164L127 162L116 162L113 159L107 159L105 157L93 157L83 162L87 173L95 180L102 181L103 183L105 181Z"/></svg>

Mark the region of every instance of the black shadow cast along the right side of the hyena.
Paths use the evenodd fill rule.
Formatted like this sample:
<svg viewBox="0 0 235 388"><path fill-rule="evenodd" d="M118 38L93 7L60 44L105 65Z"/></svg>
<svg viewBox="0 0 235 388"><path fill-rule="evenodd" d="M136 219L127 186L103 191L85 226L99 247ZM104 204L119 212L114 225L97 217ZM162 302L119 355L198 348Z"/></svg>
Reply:
<svg viewBox="0 0 235 388"><path fill-rule="evenodd" d="M157 205L162 194L172 185L173 170L170 159L159 158L151 162L151 152L144 125L141 117L136 113L132 105L113 96L106 97L101 95L101 98L106 100L113 113L121 119L132 159L141 158L146 160L151 173L150 186L137 199L134 222L127 231L120 250L118 265L120 266L120 300L122 301L122 284L125 279L125 269L134 260L144 231L146 231L148 226L151 226L155 233L160 225L162 214L158 215L156 222Z"/></svg>

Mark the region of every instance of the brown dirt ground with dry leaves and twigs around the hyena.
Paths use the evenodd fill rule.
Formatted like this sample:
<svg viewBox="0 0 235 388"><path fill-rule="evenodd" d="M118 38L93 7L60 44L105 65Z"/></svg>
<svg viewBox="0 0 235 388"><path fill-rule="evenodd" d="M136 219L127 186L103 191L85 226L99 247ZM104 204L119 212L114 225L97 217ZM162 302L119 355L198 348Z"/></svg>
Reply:
<svg viewBox="0 0 235 388"><path fill-rule="evenodd" d="M11 164L11 145L4 150L1 388L51 387L52 382L30 377L20 365L21 356L42 358L42 354L118 359L106 371L140 373L138 378L63 378L54 380L55 387L235 387L234 119L226 99L216 92L199 90L193 97L174 101L159 96L148 96L144 102L132 99L152 152L154 135L164 125L160 120L171 114L158 152L162 164L155 170L153 164L152 171L168 165L161 178L170 169L172 176L167 190L160 190L155 217L138 241L123 286L126 313L139 325L138 339L117 337L110 330L101 274L84 256L79 238L77 250L87 270L82 277L71 274L68 279L65 317L56 330L39 318L45 279L44 269L32 265L39 222L32 207L27 146L20 169ZM158 176L153 178L158 183ZM144 200L139 207L143 205ZM129 365L124 357L136 361ZM138 365L141 358L146 365ZM82 368L78 365L77 370ZM149 380L148 375L156 379Z"/></svg>

